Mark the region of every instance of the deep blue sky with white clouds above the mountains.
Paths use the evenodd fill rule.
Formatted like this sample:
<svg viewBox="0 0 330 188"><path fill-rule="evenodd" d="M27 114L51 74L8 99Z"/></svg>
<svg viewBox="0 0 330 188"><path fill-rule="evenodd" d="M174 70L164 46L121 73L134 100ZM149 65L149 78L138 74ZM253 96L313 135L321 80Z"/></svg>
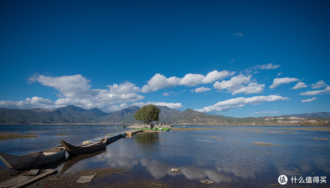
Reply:
<svg viewBox="0 0 330 188"><path fill-rule="evenodd" d="M328 1L1 1L1 108L330 111Z"/></svg>

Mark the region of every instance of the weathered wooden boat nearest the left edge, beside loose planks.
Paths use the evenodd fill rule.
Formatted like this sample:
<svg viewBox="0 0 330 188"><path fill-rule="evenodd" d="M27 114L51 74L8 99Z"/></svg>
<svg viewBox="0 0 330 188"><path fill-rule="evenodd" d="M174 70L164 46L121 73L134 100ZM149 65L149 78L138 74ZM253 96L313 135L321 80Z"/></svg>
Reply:
<svg viewBox="0 0 330 188"><path fill-rule="evenodd" d="M0 153L1 160L10 169L30 169L51 163L62 157L65 157L65 148L63 145L20 156Z"/></svg>

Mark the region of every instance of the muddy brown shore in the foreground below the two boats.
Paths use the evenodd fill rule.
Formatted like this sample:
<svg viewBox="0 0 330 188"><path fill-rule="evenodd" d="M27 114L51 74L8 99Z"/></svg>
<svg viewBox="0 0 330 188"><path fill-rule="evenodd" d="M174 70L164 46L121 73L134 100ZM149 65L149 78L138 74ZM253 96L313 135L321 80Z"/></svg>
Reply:
<svg viewBox="0 0 330 188"><path fill-rule="evenodd" d="M1 167L0 183L7 181L19 175L24 175L28 171L9 170ZM76 183L81 176L95 175L89 183ZM72 188L72 187L98 187L98 188L170 188L170 187L204 187L203 183L196 180L188 180L185 178L167 178L167 179L154 179L151 176L147 177L144 173L137 173L133 169L116 169L116 168L96 168L91 170L82 170L76 173L56 173L49 175L35 183L27 186L27 188ZM220 185L219 183L208 185L208 188L215 187L235 187L228 185Z"/></svg>

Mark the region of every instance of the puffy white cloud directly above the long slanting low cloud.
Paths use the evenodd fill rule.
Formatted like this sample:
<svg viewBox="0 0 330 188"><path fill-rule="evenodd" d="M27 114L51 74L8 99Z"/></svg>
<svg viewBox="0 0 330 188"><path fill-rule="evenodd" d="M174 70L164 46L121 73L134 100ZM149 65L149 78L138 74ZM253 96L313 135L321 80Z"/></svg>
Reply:
<svg viewBox="0 0 330 188"><path fill-rule="evenodd" d="M219 91L226 89L228 92L232 92L232 95L236 95L238 93L252 94L252 93L260 93L263 91L265 84L257 84L256 82L250 82L251 75L249 76L235 76L230 78L230 80L222 82L216 81L213 84L213 87ZM248 84L247 86L245 86Z"/></svg>

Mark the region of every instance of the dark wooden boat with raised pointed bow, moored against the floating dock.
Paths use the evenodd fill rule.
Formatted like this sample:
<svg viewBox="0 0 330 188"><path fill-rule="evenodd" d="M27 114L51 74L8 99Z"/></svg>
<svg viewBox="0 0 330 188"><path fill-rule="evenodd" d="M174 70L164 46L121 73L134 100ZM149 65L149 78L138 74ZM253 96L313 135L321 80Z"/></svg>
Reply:
<svg viewBox="0 0 330 188"><path fill-rule="evenodd" d="M99 149L103 149L107 143L107 139L108 139L108 136L105 136L100 141L97 141L94 143L89 143L89 144L78 145L78 146L71 145L62 140L61 140L61 142L69 154L82 154L82 153L88 153L88 152L96 151Z"/></svg>

